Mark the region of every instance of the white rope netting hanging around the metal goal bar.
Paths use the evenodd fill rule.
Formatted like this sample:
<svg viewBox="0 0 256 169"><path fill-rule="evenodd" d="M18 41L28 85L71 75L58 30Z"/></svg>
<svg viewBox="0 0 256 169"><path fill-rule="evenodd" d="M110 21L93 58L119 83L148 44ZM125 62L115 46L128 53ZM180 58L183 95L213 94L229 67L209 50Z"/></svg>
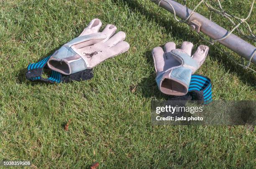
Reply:
<svg viewBox="0 0 256 169"><path fill-rule="evenodd" d="M151 0L151 1L156 1L156 0ZM184 6L186 6L186 0L183 0L184 1ZM213 0L211 0L213 1ZM256 42L256 36L254 35L253 31L251 30L251 26L248 24L247 20L249 19L249 17L251 16L251 13L253 11L253 6L254 6L254 2L255 0L252 1L251 3L251 7L250 7L250 10L248 11L248 15L247 17L245 18L240 18L240 17L237 17L235 15L232 15L230 14L229 12L227 12L226 10L224 10L224 8L222 7L221 5L221 2L220 0L215 0L215 3L218 3L218 8L216 7L213 7L212 5L210 5L209 2L207 2L207 0L201 0L195 7L194 9L192 10L192 12L189 14L189 16L185 19L185 20L179 20L176 16L176 12L175 12L175 9L173 7L173 5L168 1L168 0L159 0L159 7L160 7L160 4L161 2L166 2L167 4L170 5L170 7L172 7L172 10L174 11L174 19L177 20L178 22L183 22L183 23L187 23L187 20L189 20L189 18L193 15L193 13L195 13L195 11L197 10L198 7L200 7L201 4L205 4L208 8L208 10L210 10L210 20L212 20L212 12L215 12L219 15L222 15L223 17L227 18L228 21L230 21L232 23L232 25L234 25L233 29L229 31L229 33L227 35L225 35L224 37L221 37L220 39L210 39L210 40L207 40L205 37L203 37L202 35L200 35L200 32L198 33L198 35L205 41L209 42L211 45L214 45L215 42L217 42L218 40L224 40L226 39L228 36L230 36L235 30L237 30L239 32L239 34L241 34L241 36L253 41L253 42ZM241 25L244 25L244 27L246 27L246 29L248 30L249 32L249 35L246 35L246 33L240 28ZM225 51L223 51L225 52ZM225 52L225 54L227 56L230 56L227 52ZM248 60L247 63L245 63L245 60L241 57L241 61L243 63L238 63L236 60L234 60L232 57L230 57L231 60L233 60L233 62L235 62L237 65L240 65L242 66L243 68L245 69L249 69L251 71L253 71L254 73L256 72L255 70L251 69L249 66L251 64L251 60L253 59L253 57L255 56L256 54L256 50L253 52L253 54L251 55L250 59Z"/></svg>

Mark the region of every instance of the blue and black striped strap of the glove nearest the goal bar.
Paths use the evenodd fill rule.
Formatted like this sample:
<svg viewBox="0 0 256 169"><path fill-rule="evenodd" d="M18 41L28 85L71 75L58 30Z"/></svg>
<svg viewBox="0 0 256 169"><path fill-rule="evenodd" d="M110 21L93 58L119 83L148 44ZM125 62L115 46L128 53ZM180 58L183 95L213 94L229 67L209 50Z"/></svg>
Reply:
<svg viewBox="0 0 256 169"><path fill-rule="evenodd" d="M192 75L188 92L192 100L200 100L204 104L212 102L212 85L208 77Z"/></svg>

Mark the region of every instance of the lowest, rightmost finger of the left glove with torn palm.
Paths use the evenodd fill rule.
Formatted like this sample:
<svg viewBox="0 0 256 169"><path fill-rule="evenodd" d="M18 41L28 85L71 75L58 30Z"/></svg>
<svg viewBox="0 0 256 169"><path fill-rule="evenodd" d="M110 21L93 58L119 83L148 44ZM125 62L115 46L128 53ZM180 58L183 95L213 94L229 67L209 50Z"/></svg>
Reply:
<svg viewBox="0 0 256 169"><path fill-rule="evenodd" d="M97 52L92 58L90 59L90 68L95 67L96 65L100 64L104 60L107 60L110 57L114 57L116 55L119 55L121 53L126 52L130 48L130 45L123 41L119 42L115 46L108 48L108 51L102 53Z"/></svg>

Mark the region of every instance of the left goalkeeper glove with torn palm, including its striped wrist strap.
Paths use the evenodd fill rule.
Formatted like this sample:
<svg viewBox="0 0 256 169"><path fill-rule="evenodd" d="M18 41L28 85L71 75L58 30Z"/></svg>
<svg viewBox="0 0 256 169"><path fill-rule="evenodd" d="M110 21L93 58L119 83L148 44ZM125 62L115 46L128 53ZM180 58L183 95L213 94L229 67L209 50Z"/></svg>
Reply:
<svg viewBox="0 0 256 169"><path fill-rule="evenodd" d="M93 77L92 67L104 60L126 52L129 44L125 33L115 34L117 27L108 24L99 32L102 23L94 19L83 32L64 44L51 56L28 65L26 78L31 81L50 83L89 80ZM42 77L44 68L51 69L48 78Z"/></svg>

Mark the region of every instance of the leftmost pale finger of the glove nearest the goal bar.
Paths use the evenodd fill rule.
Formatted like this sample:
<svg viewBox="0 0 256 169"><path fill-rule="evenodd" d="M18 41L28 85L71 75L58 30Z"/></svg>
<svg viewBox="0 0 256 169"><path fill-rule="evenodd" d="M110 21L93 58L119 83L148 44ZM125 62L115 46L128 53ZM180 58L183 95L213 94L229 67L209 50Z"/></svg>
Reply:
<svg viewBox="0 0 256 169"><path fill-rule="evenodd" d="M152 56L154 59L156 73L162 72L164 70L164 60L166 57L164 50L161 47L155 47L152 50Z"/></svg>

